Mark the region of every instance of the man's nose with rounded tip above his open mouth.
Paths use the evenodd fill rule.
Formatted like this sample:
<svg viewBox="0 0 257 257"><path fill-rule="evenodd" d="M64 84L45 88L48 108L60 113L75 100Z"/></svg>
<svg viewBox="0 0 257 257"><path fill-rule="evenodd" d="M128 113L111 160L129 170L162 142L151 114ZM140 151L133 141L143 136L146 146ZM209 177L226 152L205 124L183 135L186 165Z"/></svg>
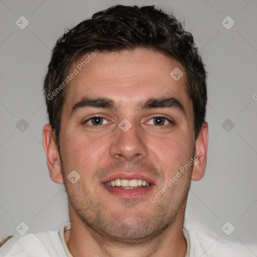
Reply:
<svg viewBox="0 0 257 257"><path fill-rule="evenodd" d="M119 126L116 128L117 134L110 145L110 155L115 159L125 159L132 161L133 159L143 159L148 155L147 146L143 142L143 135L139 133L140 128L135 123L128 130L122 130Z"/></svg>

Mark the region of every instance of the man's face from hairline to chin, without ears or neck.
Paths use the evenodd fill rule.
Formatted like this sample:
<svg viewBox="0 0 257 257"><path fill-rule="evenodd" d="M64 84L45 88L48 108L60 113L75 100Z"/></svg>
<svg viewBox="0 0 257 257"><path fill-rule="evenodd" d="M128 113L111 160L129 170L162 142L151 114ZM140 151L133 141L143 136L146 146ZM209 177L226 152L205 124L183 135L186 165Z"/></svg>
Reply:
<svg viewBox="0 0 257 257"><path fill-rule="evenodd" d="M176 67L184 73L178 81L170 75ZM184 110L176 101L170 107L141 108L150 98L170 97ZM115 108L80 106L70 115L83 98L108 98ZM193 107L182 65L147 49L98 53L68 85L60 154L71 219L80 217L119 240L151 237L176 222L184 213L192 166L154 203L150 198L195 154ZM80 175L74 184L67 179L73 170ZM115 179L151 185L105 185Z"/></svg>

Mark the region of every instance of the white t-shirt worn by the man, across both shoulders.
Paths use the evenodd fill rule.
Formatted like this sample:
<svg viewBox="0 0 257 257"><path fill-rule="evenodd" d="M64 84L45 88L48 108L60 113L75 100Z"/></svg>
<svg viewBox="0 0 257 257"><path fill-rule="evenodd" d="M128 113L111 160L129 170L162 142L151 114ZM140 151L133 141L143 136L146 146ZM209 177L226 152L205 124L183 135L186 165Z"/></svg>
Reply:
<svg viewBox="0 0 257 257"><path fill-rule="evenodd" d="M63 224L59 231L40 231L10 238L1 248L0 257L72 257L64 239ZM227 241L212 232L189 225L183 228L187 242L185 257L256 257L244 244Z"/></svg>

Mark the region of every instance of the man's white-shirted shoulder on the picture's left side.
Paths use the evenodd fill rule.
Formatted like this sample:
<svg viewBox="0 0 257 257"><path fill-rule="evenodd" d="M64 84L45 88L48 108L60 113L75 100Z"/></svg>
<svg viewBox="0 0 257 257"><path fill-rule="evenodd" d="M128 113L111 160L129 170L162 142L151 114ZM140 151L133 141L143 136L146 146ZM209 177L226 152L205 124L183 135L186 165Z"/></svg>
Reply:
<svg viewBox="0 0 257 257"><path fill-rule="evenodd" d="M16 235L0 248L0 257L65 256L58 232L46 230L26 235Z"/></svg>

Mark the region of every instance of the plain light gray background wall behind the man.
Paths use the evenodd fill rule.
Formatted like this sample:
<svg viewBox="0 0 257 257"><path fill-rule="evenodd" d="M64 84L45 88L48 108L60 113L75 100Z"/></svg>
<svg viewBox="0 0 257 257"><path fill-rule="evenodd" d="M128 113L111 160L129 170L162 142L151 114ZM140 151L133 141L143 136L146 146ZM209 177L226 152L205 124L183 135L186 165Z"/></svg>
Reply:
<svg viewBox="0 0 257 257"><path fill-rule="evenodd" d="M42 129L48 121L42 81L64 29L115 4L157 5L172 11L193 34L209 73L209 146L205 176L191 185L186 219L244 243L257 254L257 3L253 0L0 1L0 239L18 234L21 221L28 225L28 233L58 230L69 221L64 185L51 181L42 146ZM24 30L16 25L21 16L29 21ZM235 22L229 30L221 23L227 16ZM231 25L231 20L224 22ZM21 119L29 125L23 131ZM235 227L229 236L221 229L227 221Z"/></svg>

